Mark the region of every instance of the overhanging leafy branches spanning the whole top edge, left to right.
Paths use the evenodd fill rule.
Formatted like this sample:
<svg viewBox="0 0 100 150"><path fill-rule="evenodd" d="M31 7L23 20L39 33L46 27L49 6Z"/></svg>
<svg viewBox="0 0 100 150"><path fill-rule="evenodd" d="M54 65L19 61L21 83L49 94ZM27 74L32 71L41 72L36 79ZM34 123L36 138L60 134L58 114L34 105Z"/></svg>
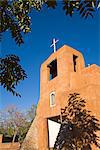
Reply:
<svg viewBox="0 0 100 150"><path fill-rule="evenodd" d="M11 31L12 38L18 45L22 44L22 33L31 31L30 12L33 9L41 10L46 5L49 8L56 8L58 0L1 0L0 1L0 33ZM100 7L100 0L61 0L66 15L73 16L76 11L81 17L93 17L93 13ZM0 34L1 38L1 34Z"/></svg>

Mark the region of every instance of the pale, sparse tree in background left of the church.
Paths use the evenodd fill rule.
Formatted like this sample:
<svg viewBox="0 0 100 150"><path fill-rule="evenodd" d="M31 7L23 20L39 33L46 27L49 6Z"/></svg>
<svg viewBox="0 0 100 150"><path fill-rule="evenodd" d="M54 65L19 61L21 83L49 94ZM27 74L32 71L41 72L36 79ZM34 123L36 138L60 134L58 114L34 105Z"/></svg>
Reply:
<svg viewBox="0 0 100 150"><path fill-rule="evenodd" d="M11 137L12 142L15 142L17 138L17 141L21 143L31 124L26 116L15 106L7 107L0 115L0 133L5 137Z"/></svg>

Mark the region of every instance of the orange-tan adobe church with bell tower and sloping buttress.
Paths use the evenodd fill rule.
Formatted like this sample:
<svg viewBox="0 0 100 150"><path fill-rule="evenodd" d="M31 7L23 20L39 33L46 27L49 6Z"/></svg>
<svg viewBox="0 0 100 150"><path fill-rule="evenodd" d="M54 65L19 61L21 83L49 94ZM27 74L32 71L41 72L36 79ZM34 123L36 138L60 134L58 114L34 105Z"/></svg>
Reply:
<svg viewBox="0 0 100 150"><path fill-rule="evenodd" d="M74 92L85 98L87 109L100 120L100 67L95 64L85 67L82 54L64 45L41 65L40 100L23 150L25 142L29 150L53 148L60 128L61 108Z"/></svg>

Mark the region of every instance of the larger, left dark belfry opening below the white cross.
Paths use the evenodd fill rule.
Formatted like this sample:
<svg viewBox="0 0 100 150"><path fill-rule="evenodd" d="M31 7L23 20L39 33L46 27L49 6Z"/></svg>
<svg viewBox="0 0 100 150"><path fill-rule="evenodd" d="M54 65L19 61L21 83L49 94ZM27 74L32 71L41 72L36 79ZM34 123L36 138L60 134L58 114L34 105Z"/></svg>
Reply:
<svg viewBox="0 0 100 150"><path fill-rule="evenodd" d="M57 76L57 60L53 60L48 67L50 68L50 80Z"/></svg>

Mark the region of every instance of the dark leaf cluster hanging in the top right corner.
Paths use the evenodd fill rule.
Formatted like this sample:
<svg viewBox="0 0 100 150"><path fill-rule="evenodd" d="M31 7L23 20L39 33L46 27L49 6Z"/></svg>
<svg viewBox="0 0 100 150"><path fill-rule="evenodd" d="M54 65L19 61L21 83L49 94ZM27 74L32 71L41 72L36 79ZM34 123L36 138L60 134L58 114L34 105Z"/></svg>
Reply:
<svg viewBox="0 0 100 150"><path fill-rule="evenodd" d="M72 15L79 12L83 18L93 17L93 13L100 7L99 0L64 0L63 9L66 11L66 15Z"/></svg>

